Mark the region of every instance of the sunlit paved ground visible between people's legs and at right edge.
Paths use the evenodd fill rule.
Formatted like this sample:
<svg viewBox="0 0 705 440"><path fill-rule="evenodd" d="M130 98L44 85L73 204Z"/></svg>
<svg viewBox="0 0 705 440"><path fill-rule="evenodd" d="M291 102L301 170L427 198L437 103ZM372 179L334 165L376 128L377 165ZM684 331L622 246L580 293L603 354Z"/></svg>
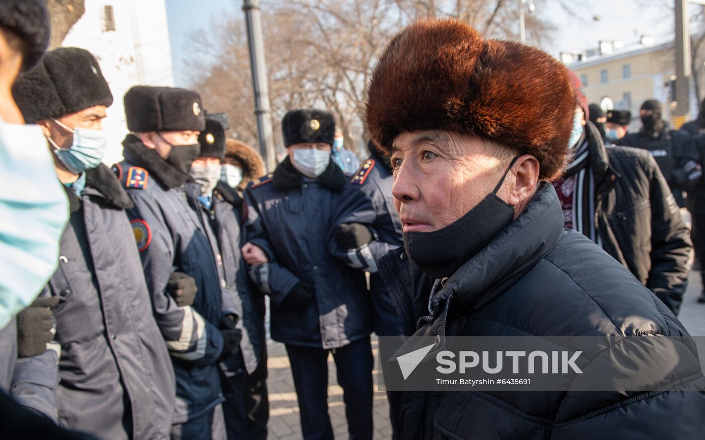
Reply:
<svg viewBox="0 0 705 440"><path fill-rule="evenodd" d="M699 304L697 298L702 291L700 274L693 271L690 274L688 290L683 300L678 318L692 336L705 336L705 304ZM296 403L293 379L289 368L289 360L283 344L269 341L269 439L295 440L301 439L299 409ZM391 439L389 424L389 405L384 391L379 391L377 384L377 341L372 339L374 362L374 439ZM329 388L328 404L333 432L337 439L348 437L348 424L345 422L345 405L343 404L343 389L337 385L336 368L333 357L329 356Z"/></svg>

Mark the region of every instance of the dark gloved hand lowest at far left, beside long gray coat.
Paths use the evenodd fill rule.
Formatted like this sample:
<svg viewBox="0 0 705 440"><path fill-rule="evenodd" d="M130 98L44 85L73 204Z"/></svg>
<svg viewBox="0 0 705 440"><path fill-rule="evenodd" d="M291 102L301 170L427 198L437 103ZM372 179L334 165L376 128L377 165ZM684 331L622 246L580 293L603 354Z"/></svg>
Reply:
<svg viewBox="0 0 705 440"><path fill-rule="evenodd" d="M18 357L38 356L47 350L47 343L54 339L54 319L51 308L59 304L59 298L37 298L22 312L17 314L17 355Z"/></svg>

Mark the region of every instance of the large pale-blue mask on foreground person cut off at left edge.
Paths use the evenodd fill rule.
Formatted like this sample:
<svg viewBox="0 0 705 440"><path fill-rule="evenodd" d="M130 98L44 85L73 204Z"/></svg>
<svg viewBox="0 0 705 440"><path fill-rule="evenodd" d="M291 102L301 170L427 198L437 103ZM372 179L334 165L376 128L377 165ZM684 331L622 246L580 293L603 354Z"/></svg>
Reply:
<svg viewBox="0 0 705 440"><path fill-rule="evenodd" d="M68 200L39 126L0 121L0 329L32 303L59 263ZM31 166L27 166L31 164Z"/></svg>

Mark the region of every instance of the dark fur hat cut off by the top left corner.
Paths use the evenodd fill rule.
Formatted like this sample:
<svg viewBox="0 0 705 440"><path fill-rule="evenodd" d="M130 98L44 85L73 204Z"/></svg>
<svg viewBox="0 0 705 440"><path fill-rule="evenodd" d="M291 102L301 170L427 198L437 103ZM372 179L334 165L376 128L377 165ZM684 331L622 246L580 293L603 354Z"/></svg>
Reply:
<svg viewBox="0 0 705 440"><path fill-rule="evenodd" d="M22 70L34 67L49 45L51 25L44 0L0 1L0 27L13 32L25 44Z"/></svg>

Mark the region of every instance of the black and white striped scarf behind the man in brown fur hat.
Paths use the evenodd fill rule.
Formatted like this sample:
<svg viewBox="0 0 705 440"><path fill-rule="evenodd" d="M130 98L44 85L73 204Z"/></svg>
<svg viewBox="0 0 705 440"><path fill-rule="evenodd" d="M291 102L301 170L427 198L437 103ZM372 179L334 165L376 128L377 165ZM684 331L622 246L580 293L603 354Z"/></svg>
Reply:
<svg viewBox="0 0 705 440"><path fill-rule="evenodd" d="M564 179L575 176L575 189L572 193L572 227L602 247L602 238L595 224L595 176L589 166L587 140L575 150L574 157L575 159L563 172Z"/></svg>

